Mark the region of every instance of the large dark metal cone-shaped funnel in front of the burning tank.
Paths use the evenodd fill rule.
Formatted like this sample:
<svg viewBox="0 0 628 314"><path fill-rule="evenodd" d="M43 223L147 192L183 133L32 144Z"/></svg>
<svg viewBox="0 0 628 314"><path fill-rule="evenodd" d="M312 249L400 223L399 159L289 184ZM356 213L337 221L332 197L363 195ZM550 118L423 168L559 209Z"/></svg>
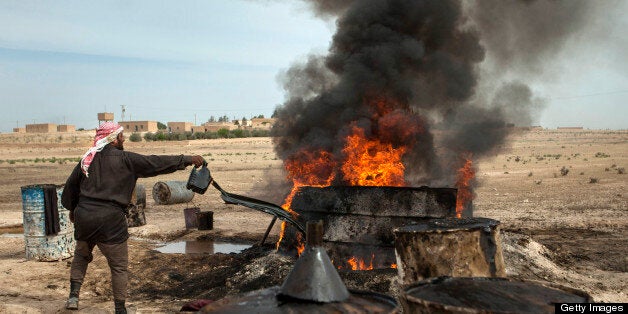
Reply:
<svg viewBox="0 0 628 314"><path fill-rule="evenodd" d="M278 299L311 302L342 302L349 298L347 287L322 247L323 222L308 222L306 246L281 286Z"/></svg>

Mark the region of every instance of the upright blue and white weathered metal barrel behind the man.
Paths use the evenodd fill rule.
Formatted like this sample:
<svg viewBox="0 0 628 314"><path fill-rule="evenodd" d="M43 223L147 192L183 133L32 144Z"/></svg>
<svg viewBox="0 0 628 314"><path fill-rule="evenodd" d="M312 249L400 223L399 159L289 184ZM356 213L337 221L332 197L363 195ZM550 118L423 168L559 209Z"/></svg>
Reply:
<svg viewBox="0 0 628 314"><path fill-rule="evenodd" d="M57 189L60 231L55 235L46 235L45 228L44 187L49 186ZM70 211L61 205L62 187L29 185L23 186L21 190L26 259L57 261L72 257L76 246L74 226L70 222Z"/></svg>

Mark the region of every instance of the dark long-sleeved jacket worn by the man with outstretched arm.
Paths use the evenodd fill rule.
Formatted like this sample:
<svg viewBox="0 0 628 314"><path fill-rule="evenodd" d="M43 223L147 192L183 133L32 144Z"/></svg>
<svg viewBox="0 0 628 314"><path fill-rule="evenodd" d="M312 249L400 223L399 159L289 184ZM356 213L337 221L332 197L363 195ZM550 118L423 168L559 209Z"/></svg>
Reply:
<svg viewBox="0 0 628 314"><path fill-rule="evenodd" d="M74 212L77 240L121 243L128 237L126 208L138 178L183 170L189 156L140 155L109 144L94 156L89 177L74 167L61 195L63 207Z"/></svg>

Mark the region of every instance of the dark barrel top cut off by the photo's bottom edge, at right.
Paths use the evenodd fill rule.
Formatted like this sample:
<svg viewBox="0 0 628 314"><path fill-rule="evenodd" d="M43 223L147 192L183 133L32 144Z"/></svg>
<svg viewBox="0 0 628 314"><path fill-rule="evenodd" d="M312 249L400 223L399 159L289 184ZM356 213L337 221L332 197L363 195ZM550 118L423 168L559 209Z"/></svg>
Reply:
<svg viewBox="0 0 628 314"><path fill-rule="evenodd" d="M404 313L554 313L555 303L589 303L583 291L495 277L429 278L406 286Z"/></svg>

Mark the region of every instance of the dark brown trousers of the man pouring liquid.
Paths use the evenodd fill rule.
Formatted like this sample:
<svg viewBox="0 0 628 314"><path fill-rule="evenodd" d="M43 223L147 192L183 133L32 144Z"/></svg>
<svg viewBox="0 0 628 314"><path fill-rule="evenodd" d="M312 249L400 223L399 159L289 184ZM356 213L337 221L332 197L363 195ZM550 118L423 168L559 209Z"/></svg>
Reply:
<svg viewBox="0 0 628 314"><path fill-rule="evenodd" d="M117 244L76 241L74 258L70 267L70 281L83 283L87 265L94 258L92 255L94 246L98 246L100 252L107 258L107 264L109 264L109 269L111 269L111 287L114 300L126 300L126 286L129 279L127 271L129 247L127 241Z"/></svg>

